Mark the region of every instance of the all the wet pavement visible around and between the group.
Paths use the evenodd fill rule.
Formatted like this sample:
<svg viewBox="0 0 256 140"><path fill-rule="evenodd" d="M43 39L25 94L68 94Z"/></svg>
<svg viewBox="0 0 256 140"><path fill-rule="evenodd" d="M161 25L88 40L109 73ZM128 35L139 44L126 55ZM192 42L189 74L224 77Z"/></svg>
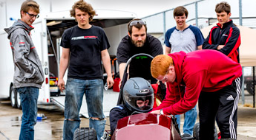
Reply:
<svg viewBox="0 0 256 140"><path fill-rule="evenodd" d="M252 100L252 96L246 96L246 99ZM56 105L39 105L38 113L44 113L47 119L38 120L35 139L61 140L64 112ZM21 117L21 110L12 108L9 101L0 100L0 140L19 139ZM183 117L181 119L183 122ZM81 120L81 127L88 127L88 119L82 117ZM105 130L110 130L108 118ZM239 140L256 140L256 108L239 105L237 134Z"/></svg>

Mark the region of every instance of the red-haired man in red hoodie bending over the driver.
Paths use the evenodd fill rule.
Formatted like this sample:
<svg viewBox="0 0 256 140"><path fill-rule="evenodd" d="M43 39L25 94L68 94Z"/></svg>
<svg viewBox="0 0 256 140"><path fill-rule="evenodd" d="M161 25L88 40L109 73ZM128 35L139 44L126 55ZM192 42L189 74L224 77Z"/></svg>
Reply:
<svg viewBox="0 0 256 140"><path fill-rule="evenodd" d="M237 139L239 63L215 50L177 52L154 57L151 74L167 83L165 99L151 113L185 113L198 100L200 139L214 139L216 118L221 138Z"/></svg>

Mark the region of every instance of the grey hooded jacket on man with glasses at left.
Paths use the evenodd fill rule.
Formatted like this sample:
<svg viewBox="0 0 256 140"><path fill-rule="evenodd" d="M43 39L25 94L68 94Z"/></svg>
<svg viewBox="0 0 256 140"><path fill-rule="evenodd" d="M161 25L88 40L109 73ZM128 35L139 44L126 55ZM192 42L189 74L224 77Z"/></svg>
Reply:
<svg viewBox="0 0 256 140"><path fill-rule="evenodd" d="M23 21L16 21L12 27L5 28L10 39L14 63L14 88L33 86L41 88L44 82L42 64L30 37L33 27Z"/></svg>

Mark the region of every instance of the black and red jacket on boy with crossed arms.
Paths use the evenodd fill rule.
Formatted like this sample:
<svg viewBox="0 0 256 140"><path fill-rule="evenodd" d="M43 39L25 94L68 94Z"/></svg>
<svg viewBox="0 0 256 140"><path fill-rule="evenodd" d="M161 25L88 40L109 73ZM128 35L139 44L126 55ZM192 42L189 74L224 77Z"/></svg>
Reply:
<svg viewBox="0 0 256 140"><path fill-rule="evenodd" d="M203 49L217 50L217 46L225 45L223 49L219 51L228 57L232 58L235 62L239 63L239 46L240 46L240 30L230 20L220 27L217 26L211 28L211 31L203 43Z"/></svg>

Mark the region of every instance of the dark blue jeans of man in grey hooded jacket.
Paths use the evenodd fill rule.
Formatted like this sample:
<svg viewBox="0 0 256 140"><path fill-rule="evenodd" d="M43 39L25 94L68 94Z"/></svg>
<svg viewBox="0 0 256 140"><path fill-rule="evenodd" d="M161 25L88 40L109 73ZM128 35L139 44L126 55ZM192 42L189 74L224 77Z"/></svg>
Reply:
<svg viewBox="0 0 256 140"><path fill-rule="evenodd" d="M22 127L21 133L19 134L19 140L34 139L39 88L23 87L16 88L16 91L21 97L22 104Z"/></svg>

